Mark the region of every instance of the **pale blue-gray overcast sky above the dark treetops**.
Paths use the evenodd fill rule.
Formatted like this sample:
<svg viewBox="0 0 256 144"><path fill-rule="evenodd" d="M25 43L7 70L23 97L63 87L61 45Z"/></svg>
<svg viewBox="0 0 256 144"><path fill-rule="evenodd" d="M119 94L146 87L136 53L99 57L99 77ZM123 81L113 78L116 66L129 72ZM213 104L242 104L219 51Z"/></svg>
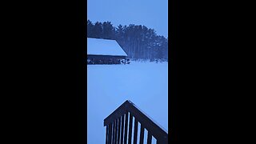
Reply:
<svg viewBox="0 0 256 144"><path fill-rule="evenodd" d="M87 18L116 27L144 25L168 36L168 0L87 0Z"/></svg>

